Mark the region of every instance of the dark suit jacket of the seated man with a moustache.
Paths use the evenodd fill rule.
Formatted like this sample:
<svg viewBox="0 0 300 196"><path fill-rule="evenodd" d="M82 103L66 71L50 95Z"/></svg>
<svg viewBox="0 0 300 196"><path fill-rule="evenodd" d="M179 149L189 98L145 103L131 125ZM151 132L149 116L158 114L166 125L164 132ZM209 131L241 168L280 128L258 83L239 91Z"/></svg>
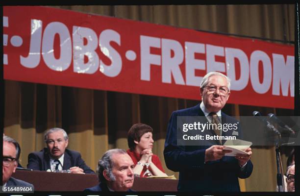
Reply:
<svg viewBox="0 0 300 196"><path fill-rule="evenodd" d="M63 170L69 170L71 167L77 166L83 169L84 173L95 173L91 170L81 158L81 154L74 150L65 150ZM39 152L31 152L28 155L28 169L47 171L50 168L50 158L47 147Z"/></svg>

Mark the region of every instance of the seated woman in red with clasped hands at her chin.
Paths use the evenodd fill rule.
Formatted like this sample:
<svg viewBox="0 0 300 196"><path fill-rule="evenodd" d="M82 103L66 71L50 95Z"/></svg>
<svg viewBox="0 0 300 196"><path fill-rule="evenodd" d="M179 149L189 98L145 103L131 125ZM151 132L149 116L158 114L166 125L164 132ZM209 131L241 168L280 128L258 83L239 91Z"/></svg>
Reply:
<svg viewBox="0 0 300 196"><path fill-rule="evenodd" d="M133 172L140 177L144 176L149 166L149 171L152 175L167 176L157 155L152 153L153 129L147 124L137 123L133 124L127 134L127 142L130 149L127 150L135 167ZM147 173L146 173L147 174ZM151 174L148 174L151 175Z"/></svg>

